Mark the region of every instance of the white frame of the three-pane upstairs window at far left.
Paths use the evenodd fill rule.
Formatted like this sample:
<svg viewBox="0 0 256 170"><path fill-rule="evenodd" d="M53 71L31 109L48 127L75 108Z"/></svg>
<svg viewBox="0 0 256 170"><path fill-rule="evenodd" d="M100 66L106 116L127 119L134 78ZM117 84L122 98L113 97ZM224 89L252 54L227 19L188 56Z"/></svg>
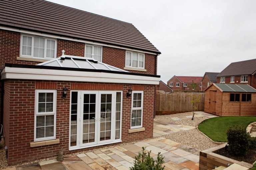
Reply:
<svg viewBox="0 0 256 170"><path fill-rule="evenodd" d="M31 55L23 55L22 54L22 42L23 42L23 36L31 37L32 38L32 46L31 46ZM34 38L44 38L44 57L34 57ZM54 58L46 57L46 51L47 51L47 40L55 41L55 49L54 49L54 58L57 56L57 39L49 38L49 37L42 37L42 36L36 36L36 35L28 35L28 34L21 34L20 35L20 57L23 58L34 58L34 59L42 59L42 60L51 60Z"/></svg>

